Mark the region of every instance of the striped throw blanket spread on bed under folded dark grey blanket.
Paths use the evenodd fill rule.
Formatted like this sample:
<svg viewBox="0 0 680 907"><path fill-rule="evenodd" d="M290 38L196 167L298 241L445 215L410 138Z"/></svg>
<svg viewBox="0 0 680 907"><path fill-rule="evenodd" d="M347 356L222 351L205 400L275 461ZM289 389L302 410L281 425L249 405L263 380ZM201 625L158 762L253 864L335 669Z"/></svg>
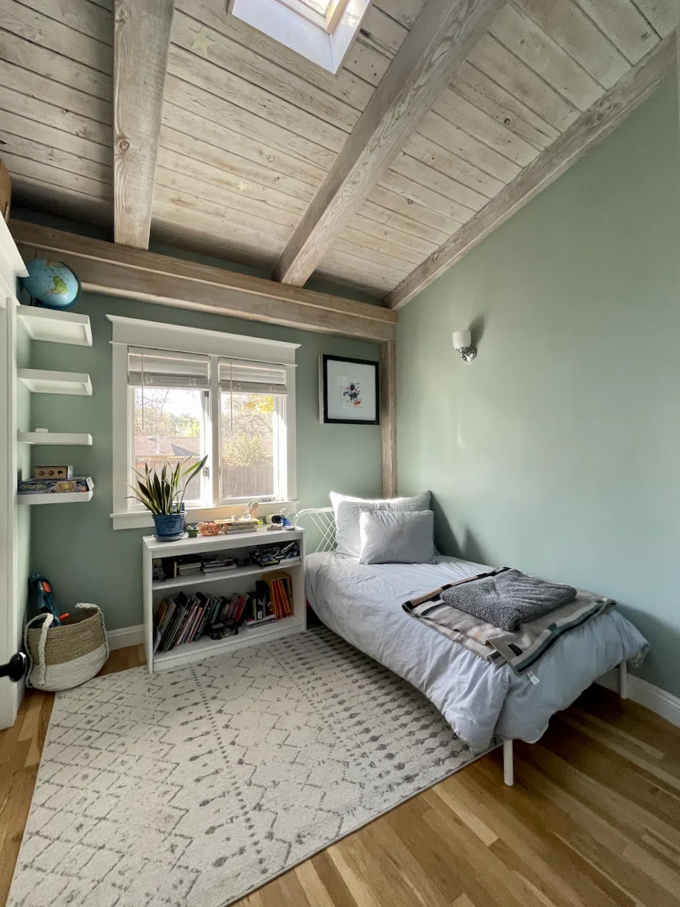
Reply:
<svg viewBox="0 0 680 907"><path fill-rule="evenodd" d="M481 573L482 579L489 576ZM463 580L463 581L470 581ZM508 631L495 627L466 611L453 608L442 599L442 592L454 583L435 589L421 598L405 601L403 610L422 620L443 636L453 639L480 658L491 661L497 668L508 664L516 674L522 674L536 664L539 658L570 629L580 627L587 620L617 607L613 599L605 599L593 592L577 590L577 597L540 617L520 623L518 629Z"/></svg>

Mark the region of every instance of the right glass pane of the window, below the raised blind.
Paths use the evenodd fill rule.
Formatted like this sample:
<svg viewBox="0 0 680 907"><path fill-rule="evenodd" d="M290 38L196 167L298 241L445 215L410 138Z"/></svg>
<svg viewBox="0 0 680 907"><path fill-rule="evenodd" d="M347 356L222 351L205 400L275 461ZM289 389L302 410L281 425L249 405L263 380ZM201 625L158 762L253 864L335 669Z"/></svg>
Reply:
<svg viewBox="0 0 680 907"><path fill-rule="evenodd" d="M274 396L222 394L222 500L273 497Z"/></svg>

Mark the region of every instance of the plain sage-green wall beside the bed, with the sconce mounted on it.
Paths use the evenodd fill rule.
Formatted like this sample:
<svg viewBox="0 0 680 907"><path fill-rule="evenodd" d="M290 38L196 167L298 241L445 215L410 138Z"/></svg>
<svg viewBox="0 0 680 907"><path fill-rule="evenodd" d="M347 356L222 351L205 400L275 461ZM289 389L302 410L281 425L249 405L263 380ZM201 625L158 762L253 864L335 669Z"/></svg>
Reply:
<svg viewBox="0 0 680 907"><path fill-rule="evenodd" d="M677 696L676 92L403 308L397 394L400 493L432 489L442 550L615 597Z"/></svg>

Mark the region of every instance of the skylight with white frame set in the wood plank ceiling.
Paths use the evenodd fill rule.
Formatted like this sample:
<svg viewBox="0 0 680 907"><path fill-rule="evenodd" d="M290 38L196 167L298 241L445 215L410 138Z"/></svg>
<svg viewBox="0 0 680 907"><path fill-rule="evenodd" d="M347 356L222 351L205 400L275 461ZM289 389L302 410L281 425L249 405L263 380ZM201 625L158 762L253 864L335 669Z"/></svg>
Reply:
<svg viewBox="0 0 680 907"><path fill-rule="evenodd" d="M230 0L228 10L330 73L337 73L371 0Z"/></svg>

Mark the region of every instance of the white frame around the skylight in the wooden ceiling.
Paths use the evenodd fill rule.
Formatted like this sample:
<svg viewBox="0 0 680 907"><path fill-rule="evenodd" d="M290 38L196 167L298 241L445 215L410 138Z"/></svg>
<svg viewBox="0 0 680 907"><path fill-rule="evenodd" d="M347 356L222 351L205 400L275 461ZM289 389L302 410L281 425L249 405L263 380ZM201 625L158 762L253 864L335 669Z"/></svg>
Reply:
<svg viewBox="0 0 680 907"><path fill-rule="evenodd" d="M335 75L359 33L370 5L371 0L349 0L333 34L278 0L230 0L228 10L257 31L268 34L279 44L285 44L296 54Z"/></svg>

